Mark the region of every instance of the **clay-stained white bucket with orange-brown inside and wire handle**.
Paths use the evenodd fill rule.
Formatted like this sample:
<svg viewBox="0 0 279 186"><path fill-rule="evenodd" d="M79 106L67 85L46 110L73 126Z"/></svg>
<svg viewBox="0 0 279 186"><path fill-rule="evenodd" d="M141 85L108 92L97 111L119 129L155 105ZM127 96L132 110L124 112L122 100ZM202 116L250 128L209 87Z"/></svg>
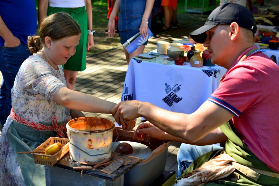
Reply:
<svg viewBox="0 0 279 186"><path fill-rule="evenodd" d="M111 156L112 121L101 117L79 117L67 125L70 157L77 162L100 162Z"/></svg>

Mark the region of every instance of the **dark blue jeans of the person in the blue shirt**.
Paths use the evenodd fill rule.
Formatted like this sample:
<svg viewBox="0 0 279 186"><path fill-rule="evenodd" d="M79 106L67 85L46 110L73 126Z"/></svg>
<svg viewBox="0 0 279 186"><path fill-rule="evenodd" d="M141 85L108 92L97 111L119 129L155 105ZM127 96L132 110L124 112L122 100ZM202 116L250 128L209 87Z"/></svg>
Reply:
<svg viewBox="0 0 279 186"><path fill-rule="evenodd" d="M22 62L32 53L27 44L20 43L16 47L0 46L0 71L3 76L0 89L0 122L4 126L12 108L11 89Z"/></svg>

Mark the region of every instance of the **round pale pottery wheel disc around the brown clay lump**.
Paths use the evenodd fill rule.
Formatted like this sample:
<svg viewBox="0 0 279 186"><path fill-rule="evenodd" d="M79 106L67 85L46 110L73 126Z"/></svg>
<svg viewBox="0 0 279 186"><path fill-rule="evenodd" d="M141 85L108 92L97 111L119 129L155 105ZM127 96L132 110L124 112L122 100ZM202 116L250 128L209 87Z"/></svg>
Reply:
<svg viewBox="0 0 279 186"><path fill-rule="evenodd" d="M142 143L137 143L137 142L133 142L133 141L116 141L115 143L112 142L112 148L111 151L114 152L116 147L120 144L120 143L129 143L132 147L133 147L133 153L131 154L127 154L128 156L135 156L135 157L139 157L142 158L142 160L148 158L151 155L151 149L142 144Z"/></svg>

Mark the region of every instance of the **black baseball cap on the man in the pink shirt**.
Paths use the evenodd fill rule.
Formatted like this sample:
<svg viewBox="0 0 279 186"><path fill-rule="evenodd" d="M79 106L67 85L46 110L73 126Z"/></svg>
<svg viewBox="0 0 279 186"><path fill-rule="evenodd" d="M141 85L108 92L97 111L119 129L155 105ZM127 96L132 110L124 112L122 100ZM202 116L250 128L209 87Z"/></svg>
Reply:
<svg viewBox="0 0 279 186"><path fill-rule="evenodd" d="M197 43L204 43L207 37L206 31L220 24L231 24L236 22L240 27L256 33L257 24L252 12L246 7L237 3L226 3L215 8L207 20L205 25L191 32L189 35Z"/></svg>

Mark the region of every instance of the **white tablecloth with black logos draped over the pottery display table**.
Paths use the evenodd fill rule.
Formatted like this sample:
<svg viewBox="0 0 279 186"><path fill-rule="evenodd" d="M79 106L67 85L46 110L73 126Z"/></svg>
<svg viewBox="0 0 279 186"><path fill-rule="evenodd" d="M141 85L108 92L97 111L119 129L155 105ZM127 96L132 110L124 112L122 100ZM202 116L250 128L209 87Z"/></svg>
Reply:
<svg viewBox="0 0 279 186"><path fill-rule="evenodd" d="M131 59L123 100L140 100L180 113L193 113L218 87L227 70L220 66L165 65Z"/></svg>

